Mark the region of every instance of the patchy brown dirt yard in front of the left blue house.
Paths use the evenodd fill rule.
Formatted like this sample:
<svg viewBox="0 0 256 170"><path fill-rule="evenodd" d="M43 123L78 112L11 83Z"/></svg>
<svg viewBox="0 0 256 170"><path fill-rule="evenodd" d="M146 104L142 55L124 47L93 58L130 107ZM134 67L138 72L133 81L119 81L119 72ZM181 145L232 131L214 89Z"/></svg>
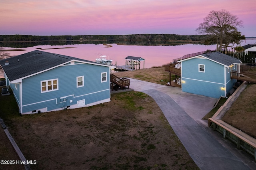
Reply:
<svg viewBox="0 0 256 170"><path fill-rule="evenodd" d="M198 169L158 105L141 92L116 93L88 108L12 115L5 122L26 159L36 160L33 170Z"/></svg>

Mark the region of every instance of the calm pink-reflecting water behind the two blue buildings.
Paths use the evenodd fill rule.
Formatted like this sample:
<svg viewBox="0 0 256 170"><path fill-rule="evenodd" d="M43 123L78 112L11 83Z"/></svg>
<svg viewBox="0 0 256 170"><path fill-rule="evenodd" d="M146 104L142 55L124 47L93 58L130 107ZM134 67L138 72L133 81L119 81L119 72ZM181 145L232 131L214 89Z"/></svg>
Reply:
<svg viewBox="0 0 256 170"><path fill-rule="evenodd" d="M246 40L241 45L253 44L256 40ZM76 44L76 45L38 45L34 47L19 48L26 49L26 51L10 51L11 55L20 55L29 51L34 51L36 48L62 48L62 47L74 47L68 49L44 49L51 53L58 53L62 55L68 55L77 57L80 59L86 59L95 61L100 55L106 55L107 59L112 59L112 64L125 65L125 57L128 55L135 57L142 57L145 59L145 68L153 66L161 66L172 62L172 59L182 57L183 55L205 51L206 49L214 50L216 45L197 45L186 44L176 46L140 46L140 45L116 45L112 44L112 47L106 47L103 44ZM14 49L11 47L5 47L5 49ZM143 62L142 62L143 63ZM143 68L143 64L140 68Z"/></svg>

